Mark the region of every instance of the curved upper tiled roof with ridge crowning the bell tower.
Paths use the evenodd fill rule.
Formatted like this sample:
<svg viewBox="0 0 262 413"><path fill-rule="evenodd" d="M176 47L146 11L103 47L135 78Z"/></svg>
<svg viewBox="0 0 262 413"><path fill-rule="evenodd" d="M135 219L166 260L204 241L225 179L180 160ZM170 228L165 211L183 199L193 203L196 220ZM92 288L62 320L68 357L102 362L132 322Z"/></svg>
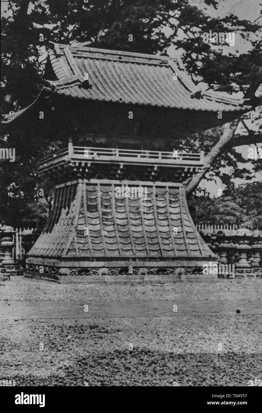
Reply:
<svg viewBox="0 0 262 413"><path fill-rule="evenodd" d="M247 111L244 100L199 90L182 62L168 56L54 43L49 57L59 79L47 81L55 93L177 109ZM79 88L85 74L90 89Z"/></svg>

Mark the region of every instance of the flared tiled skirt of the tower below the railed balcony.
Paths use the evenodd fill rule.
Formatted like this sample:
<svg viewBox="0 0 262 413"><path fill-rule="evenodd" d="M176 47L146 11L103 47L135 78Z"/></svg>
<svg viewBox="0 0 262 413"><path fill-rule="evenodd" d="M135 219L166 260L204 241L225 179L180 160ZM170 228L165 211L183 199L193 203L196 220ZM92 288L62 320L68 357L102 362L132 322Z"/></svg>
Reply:
<svg viewBox="0 0 262 413"><path fill-rule="evenodd" d="M28 256L214 257L194 226L183 186L143 183L142 199L118 194L119 185L60 185L49 225Z"/></svg>

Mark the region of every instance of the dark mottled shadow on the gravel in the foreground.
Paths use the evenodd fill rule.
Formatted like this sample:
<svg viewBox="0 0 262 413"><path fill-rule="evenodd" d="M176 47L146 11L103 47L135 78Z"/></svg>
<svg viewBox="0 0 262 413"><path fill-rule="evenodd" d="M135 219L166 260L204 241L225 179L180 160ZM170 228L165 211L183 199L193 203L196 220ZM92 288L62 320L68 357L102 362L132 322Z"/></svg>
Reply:
<svg viewBox="0 0 262 413"><path fill-rule="evenodd" d="M247 386L261 377L261 354L113 351L75 358L63 377L13 377L23 386Z"/></svg>

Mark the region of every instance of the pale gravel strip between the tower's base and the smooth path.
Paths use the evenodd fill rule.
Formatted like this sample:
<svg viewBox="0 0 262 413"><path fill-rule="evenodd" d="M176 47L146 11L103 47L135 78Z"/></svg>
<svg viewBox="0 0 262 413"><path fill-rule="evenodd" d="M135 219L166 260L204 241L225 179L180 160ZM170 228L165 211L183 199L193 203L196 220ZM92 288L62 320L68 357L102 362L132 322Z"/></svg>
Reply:
<svg viewBox="0 0 262 413"><path fill-rule="evenodd" d="M117 282L57 284L12 277L0 290L0 300L10 301L118 301L176 299L255 299L262 296L262 278L223 279L216 282Z"/></svg>

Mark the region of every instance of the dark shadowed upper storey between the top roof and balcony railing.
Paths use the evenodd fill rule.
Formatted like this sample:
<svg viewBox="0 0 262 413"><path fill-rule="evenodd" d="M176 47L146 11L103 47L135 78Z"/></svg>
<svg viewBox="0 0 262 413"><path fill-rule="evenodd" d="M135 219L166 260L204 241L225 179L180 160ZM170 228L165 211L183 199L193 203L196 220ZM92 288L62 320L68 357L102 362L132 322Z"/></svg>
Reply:
<svg viewBox="0 0 262 413"><path fill-rule="evenodd" d="M44 119L39 119L39 112ZM129 112L133 118L129 119ZM67 144L123 149L172 151L180 138L222 125L215 112L164 109L112 102L94 102L62 95L42 96L22 114L20 124L28 134ZM12 128L12 124L9 125Z"/></svg>

